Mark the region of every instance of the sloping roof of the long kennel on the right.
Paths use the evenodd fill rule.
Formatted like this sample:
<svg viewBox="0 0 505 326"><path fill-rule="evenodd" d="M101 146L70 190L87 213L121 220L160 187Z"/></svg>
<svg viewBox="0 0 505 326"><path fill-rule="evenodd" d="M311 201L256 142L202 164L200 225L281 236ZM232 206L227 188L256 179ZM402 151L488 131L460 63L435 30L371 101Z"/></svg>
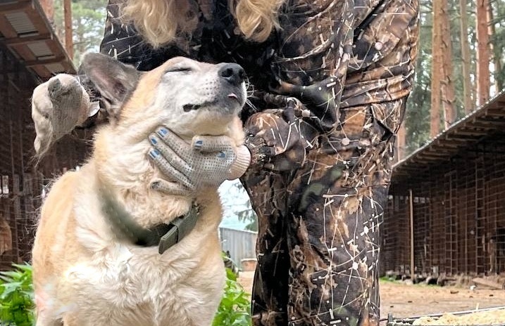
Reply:
<svg viewBox="0 0 505 326"><path fill-rule="evenodd" d="M393 166L392 183L449 162L462 150L486 143L505 145L505 90L439 133Z"/></svg>

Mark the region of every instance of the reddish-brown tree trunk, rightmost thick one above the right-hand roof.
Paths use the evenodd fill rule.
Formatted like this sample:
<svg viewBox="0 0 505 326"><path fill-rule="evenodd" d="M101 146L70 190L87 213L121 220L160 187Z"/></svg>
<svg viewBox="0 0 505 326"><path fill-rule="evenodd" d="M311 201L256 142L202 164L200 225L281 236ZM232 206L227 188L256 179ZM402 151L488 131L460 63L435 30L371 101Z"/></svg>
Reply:
<svg viewBox="0 0 505 326"><path fill-rule="evenodd" d="M487 15L489 1L477 1L477 103L490 99L490 36Z"/></svg>

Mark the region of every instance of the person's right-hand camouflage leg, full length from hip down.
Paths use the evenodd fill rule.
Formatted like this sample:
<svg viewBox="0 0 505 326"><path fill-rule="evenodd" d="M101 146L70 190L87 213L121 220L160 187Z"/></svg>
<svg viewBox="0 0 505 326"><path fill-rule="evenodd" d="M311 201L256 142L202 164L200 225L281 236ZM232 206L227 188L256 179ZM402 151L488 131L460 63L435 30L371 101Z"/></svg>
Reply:
<svg viewBox="0 0 505 326"><path fill-rule="evenodd" d="M413 81L417 13L417 0L382 1L359 26L339 124L318 136L289 183L289 326L378 325L380 224Z"/></svg>

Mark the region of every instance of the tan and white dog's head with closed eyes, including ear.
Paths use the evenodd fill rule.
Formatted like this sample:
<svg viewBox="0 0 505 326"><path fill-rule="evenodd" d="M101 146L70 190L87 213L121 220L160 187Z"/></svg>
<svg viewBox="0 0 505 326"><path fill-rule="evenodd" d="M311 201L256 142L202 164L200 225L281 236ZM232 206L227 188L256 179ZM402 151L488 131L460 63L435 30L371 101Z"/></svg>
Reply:
<svg viewBox="0 0 505 326"><path fill-rule="evenodd" d="M180 137L223 135L246 100L245 73L177 57L150 72L90 53L82 70L100 91L113 124L145 137L164 124Z"/></svg>

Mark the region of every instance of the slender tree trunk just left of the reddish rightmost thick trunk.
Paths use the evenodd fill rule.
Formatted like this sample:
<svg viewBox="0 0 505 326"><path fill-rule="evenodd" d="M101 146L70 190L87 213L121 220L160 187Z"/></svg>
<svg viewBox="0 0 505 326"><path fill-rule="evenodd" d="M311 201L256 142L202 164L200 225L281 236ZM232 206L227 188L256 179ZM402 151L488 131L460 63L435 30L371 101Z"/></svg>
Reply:
<svg viewBox="0 0 505 326"><path fill-rule="evenodd" d="M470 44L468 44L468 15L466 14L466 0L459 0L459 14L461 27L461 66L463 74L463 105L465 114L473 110L472 84L470 79Z"/></svg>

